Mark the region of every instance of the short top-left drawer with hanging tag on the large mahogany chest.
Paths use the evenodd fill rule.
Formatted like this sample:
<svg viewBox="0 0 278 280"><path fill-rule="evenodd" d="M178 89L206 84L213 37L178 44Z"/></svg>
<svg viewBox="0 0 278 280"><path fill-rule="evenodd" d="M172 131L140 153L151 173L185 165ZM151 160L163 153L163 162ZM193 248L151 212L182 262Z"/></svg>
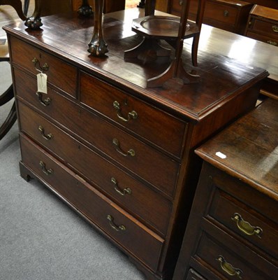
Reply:
<svg viewBox="0 0 278 280"><path fill-rule="evenodd" d="M22 66L35 75L36 69L47 74L47 82L64 92L76 97L77 69L70 64L47 54L17 38L10 37L13 48L11 56L13 63Z"/></svg>

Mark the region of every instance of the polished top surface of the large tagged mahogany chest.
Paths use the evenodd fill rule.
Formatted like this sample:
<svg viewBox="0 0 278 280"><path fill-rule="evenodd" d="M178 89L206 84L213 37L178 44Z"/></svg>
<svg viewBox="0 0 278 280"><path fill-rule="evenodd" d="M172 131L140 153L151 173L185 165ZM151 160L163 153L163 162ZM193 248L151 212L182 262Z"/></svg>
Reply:
<svg viewBox="0 0 278 280"><path fill-rule="evenodd" d="M157 76L168 68L170 57L162 57L149 64L144 64L139 59L124 59L124 50L129 50L142 41L141 37L131 31L132 18L136 17L138 11L130 12L124 20L114 17L113 13L105 15L103 34L109 52L102 58L92 57L87 52L87 43L94 28L92 18L80 18L73 14L51 15L43 18L42 29L30 30L23 22L19 22L5 27L5 30L8 34L92 73L110 85L156 106L170 108L179 116L195 121L268 76L264 69L240 64L223 55L204 50L198 52L198 67L193 67L191 54L184 51L184 68L188 72L197 71L200 75L199 83L183 85L178 90L146 88L148 78Z"/></svg>

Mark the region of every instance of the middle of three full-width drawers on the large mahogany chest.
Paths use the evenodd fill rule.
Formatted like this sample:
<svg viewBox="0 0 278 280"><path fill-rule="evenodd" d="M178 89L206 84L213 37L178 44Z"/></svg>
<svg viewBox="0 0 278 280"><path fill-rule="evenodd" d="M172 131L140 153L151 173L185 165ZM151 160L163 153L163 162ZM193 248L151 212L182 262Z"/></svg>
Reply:
<svg viewBox="0 0 278 280"><path fill-rule="evenodd" d="M28 106L18 102L18 109L22 132L78 170L126 211L166 235L171 211L168 200L70 137Z"/></svg>

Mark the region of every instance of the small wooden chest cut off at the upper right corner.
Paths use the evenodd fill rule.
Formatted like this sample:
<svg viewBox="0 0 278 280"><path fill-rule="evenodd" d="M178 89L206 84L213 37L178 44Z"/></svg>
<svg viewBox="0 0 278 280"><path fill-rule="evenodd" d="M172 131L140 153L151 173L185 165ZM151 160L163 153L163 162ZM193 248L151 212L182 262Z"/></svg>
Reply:
<svg viewBox="0 0 278 280"><path fill-rule="evenodd" d="M278 10L255 5L245 35L278 46Z"/></svg>

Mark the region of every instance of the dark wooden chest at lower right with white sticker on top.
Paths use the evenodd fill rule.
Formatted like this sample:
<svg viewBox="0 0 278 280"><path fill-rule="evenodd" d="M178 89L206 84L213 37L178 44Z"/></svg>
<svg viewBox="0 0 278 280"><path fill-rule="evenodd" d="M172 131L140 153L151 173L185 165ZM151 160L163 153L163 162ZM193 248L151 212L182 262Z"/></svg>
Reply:
<svg viewBox="0 0 278 280"><path fill-rule="evenodd" d="M197 149L205 160L175 280L276 279L278 102Z"/></svg>

